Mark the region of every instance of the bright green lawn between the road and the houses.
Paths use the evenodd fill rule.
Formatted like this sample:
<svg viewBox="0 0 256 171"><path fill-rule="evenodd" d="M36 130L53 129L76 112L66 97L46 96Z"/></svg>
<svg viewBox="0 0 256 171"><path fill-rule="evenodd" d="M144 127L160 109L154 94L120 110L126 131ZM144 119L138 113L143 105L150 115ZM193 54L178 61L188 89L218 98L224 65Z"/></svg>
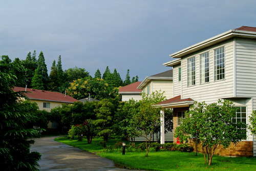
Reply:
<svg viewBox="0 0 256 171"><path fill-rule="evenodd" d="M145 157L145 152L104 152L102 146L97 145L101 139L94 139L92 144L86 141L56 139L59 142L72 145L86 151L96 153L102 157L113 160L119 165L128 168L140 168L148 170L256 170L255 157L222 157L214 156L212 165L204 163L202 154L185 152L150 152ZM116 141L111 140L107 145L113 145Z"/></svg>

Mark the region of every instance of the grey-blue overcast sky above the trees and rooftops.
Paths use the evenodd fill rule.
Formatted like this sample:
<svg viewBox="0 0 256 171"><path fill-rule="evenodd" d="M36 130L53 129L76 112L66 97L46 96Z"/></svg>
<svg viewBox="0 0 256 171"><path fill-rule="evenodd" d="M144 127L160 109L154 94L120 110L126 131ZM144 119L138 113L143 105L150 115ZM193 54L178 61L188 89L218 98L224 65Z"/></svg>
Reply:
<svg viewBox="0 0 256 171"><path fill-rule="evenodd" d="M241 26L256 27L255 0L0 0L0 56L42 51L48 72L61 55L63 70L142 81L171 69L169 54Z"/></svg>

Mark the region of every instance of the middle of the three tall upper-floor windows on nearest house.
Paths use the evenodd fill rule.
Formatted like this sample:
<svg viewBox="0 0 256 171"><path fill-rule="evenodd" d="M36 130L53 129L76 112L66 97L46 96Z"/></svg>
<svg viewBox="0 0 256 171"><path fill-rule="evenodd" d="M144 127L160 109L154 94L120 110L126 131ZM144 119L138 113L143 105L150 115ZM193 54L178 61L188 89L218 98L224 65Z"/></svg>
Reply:
<svg viewBox="0 0 256 171"><path fill-rule="evenodd" d="M200 83L209 82L209 52L200 55Z"/></svg>

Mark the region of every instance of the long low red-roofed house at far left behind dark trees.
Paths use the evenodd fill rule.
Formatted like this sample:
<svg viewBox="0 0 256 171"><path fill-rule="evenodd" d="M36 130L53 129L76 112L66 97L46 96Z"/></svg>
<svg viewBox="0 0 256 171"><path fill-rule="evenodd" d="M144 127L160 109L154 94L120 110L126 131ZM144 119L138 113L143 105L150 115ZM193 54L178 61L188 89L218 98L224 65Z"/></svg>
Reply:
<svg viewBox="0 0 256 171"><path fill-rule="evenodd" d="M73 104L75 101L78 101L73 97L58 92L28 89L22 87L14 87L13 91L25 91L25 95L30 99L30 101L37 103L39 110L46 110L48 112L50 112L51 109L55 108L56 106L60 106L61 104ZM56 123L48 123L48 128L56 128Z"/></svg>

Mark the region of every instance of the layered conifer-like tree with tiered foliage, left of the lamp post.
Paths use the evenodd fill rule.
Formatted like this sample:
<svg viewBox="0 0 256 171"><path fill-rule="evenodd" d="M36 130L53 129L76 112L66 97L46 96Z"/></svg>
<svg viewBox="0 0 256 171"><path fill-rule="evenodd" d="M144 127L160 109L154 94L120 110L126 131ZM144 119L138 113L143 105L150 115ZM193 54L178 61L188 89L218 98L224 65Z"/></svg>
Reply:
<svg viewBox="0 0 256 171"><path fill-rule="evenodd" d="M98 130L98 135L103 137L103 146L106 146L109 136L112 134L113 129L113 116L114 116L115 106L110 99L103 99L96 104L97 119L95 120L96 129Z"/></svg>

